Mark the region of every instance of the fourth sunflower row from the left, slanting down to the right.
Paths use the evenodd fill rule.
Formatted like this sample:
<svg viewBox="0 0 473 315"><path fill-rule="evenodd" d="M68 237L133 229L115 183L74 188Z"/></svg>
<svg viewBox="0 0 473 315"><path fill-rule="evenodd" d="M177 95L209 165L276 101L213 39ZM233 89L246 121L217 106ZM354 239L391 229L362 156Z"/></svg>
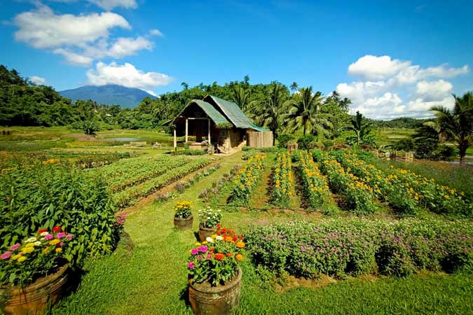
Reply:
<svg viewBox="0 0 473 315"><path fill-rule="evenodd" d="M345 170L339 162L329 155L317 152L320 169L327 175L332 190L343 196L347 207L359 214L372 214L378 210L375 191L362 179Z"/></svg>

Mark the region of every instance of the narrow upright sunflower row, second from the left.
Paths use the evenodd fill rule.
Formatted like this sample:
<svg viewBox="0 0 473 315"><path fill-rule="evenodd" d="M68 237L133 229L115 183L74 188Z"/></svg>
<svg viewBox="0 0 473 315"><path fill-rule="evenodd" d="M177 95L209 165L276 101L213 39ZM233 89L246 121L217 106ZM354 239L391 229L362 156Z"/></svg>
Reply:
<svg viewBox="0 0 473 315"><path fill-rule="evenodd" d="M273 204L279 207L289 207L292 197L292 167L291 157L287 151L277 153L273 172Z"/></svg>

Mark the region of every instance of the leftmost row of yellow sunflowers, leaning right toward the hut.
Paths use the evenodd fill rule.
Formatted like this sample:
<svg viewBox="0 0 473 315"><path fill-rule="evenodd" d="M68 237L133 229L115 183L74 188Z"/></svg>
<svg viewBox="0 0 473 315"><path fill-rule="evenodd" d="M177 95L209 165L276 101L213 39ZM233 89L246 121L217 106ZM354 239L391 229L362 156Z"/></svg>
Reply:
<svg viewBox="0 0 473 315"><path fill-rule="evenodd" d="M230 196L230 201L238 205L247 205L249 197L251 197L254 188L258 185L258 181L263 173L263 162L266 155L256 153L248 158L244 167L238 170L233 183L235 188Z"/></svg>

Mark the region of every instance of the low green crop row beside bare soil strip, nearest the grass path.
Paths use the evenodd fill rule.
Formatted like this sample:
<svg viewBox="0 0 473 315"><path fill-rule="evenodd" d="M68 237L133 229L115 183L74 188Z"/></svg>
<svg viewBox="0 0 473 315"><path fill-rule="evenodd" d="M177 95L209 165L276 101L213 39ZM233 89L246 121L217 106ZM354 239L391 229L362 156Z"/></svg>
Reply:
<svg viewBox="0 0 473 315"><path fill-rule="evenodd" d="M156 190L159 190L160 188L163 188L164 186L181 179L186 174L204 167L209 162L209 158L199 158L197 160L193 160L192 162L188 162L186 165L181 167L170 167L168 168L168 172L165 174L145 181L139 185L121 190L121 192L114 194L114 202L116 207L118 209L129 207L132 204L135 204L139 197L150 195Z"/></svg>

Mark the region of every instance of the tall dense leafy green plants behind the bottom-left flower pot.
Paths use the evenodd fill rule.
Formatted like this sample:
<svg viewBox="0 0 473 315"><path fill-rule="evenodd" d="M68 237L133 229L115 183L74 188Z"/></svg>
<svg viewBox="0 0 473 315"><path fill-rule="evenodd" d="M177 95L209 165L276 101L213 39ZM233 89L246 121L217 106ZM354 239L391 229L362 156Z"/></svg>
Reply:
<svg viewBox="0 0 473 315"><path fill-rule="evenodd" d="M0 248L37 230L60 226L74 235L67 255L110 253L118 241L111 195L104 178L74 165L19 167L0 177Z"/></svg>

